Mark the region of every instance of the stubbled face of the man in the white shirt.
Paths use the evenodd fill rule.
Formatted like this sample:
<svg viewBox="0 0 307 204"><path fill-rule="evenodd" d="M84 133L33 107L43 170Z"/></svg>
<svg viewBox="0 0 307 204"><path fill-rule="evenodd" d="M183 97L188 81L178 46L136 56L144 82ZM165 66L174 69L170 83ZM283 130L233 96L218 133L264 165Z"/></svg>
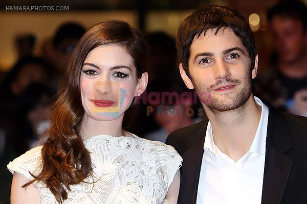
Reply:
<svg viewBox="0 0 307 204"><path fill-rule="evenodd" d="M205 36L194 38L189 58L191 80L182 65L181 75L188 88L195 88L204 108L230 111L251 97L257 57L251 69L247 49L232 30L226 28L214 33L215 29L208 30Z"/></svg>

